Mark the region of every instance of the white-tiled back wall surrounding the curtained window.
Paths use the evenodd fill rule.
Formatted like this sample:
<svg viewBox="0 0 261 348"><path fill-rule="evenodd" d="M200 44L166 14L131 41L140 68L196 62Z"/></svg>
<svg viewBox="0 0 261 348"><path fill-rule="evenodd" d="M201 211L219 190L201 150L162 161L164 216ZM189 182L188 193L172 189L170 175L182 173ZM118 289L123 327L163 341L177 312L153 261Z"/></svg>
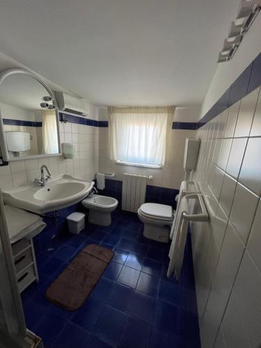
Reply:
<svg viewBox="0 0 261 348"><path fill-rule="evenodd" d="M152 175L151 186L180 189L180 182L184 180L183 158L184 142L187 137L196 134L196 122L188 122L192 117L198 119L197 108L180 108L175 111L170 141L168 143L166 163L161 169L139 168L135 166L122 166L109 159L108 155L108 127L99 128L99 171L116 173L116 180L122 180L122 173L139 175ZM192 110L192 112L191 112ZM106 113L106 111L103 111ZM180 113L180 117L179 116ZM104 116L104 115L103 115ZM106 117L106 115L105 115ZM184 122L180 122L180 121Z"/></svg>

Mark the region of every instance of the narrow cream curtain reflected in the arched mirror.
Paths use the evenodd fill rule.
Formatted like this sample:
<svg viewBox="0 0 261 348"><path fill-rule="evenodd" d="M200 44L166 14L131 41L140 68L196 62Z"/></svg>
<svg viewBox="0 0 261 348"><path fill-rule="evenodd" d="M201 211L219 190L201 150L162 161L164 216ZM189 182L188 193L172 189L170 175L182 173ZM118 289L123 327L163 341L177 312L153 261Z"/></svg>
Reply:
<svg viewBox="0 0 261 348"><path fill-rule="evenodd" d="M42 113L42 153L58 153L58 136L56 112L54 110L41 111Z"/></svg>

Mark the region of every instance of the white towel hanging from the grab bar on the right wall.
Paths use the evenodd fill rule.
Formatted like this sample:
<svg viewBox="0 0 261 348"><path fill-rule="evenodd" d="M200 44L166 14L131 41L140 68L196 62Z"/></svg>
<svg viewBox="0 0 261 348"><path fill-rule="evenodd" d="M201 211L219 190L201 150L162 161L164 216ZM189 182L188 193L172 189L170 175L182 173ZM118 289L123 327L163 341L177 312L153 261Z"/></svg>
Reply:
<svg viewBox="0 0 261 348"><path fill-rule="evenodd" d="M168 253L170 262L168 265L168 274L170 277L174 272L175 278L178 280L180 278L180 271L182 269L183 257L184 257L184 248L187 240L187 229L188 229L188 220L183 218L183 213L188 212L189 206L187 203L187 198L183 197L180 200L180 207L176 212L176 221L173 221L173 240L171 242L171 248ZM175 226L174 226L175 224Z"/></svg>

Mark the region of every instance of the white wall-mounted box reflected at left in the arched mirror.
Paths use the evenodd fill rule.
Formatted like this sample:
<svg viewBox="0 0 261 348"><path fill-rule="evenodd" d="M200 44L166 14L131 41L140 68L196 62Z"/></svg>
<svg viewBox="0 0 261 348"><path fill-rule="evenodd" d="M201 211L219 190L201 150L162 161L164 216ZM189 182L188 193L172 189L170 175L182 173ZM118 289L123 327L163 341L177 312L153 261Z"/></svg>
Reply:
<svg viewBox="0 0 261 348"><path fill-rule="evenodd" d="M31 150L30 133L6 132L6 145L10 152Z"/></svg>

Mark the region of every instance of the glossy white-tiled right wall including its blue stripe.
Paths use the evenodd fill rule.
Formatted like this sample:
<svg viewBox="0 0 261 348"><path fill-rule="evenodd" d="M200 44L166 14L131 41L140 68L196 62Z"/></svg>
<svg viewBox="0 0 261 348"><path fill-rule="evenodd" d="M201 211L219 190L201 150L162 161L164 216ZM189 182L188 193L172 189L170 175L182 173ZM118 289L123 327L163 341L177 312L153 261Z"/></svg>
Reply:
<svg viewBox="0 0 261 348"><path fill-rule="evenodd" d="M261 344L261 56L209 110L193 178L208 223L191 238L203 348ZM223 99L222 99L223 98Z"/></svg>

